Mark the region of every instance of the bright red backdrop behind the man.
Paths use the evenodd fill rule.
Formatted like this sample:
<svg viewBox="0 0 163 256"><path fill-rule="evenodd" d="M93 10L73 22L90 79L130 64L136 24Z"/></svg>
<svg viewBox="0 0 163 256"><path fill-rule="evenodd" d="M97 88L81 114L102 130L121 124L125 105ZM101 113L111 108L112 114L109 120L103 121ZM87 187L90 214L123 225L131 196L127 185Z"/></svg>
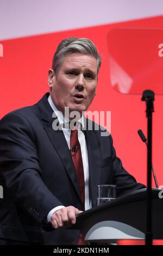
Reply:
<svg viewBox="0 0 163 256"><path fill-rule="evenodd" d="M137 181L146 184L146 147L137 135L139 129L142 129L145 135L147 131L145 102L141 101L141 95L122 95L111 88L106 37L114 27L163 28L162 24L163 16L160 16L1 41L4 57L0 58L0 118L16 108L36 103L48 91L47 71L51 68L54 51L62 39L69 36L89 38L95 42L103 59L97 96L89 110L111 111L111 133L117 155ZM154 107L153 165L159 185L163 185L162 96L155 97Z"/></svg>

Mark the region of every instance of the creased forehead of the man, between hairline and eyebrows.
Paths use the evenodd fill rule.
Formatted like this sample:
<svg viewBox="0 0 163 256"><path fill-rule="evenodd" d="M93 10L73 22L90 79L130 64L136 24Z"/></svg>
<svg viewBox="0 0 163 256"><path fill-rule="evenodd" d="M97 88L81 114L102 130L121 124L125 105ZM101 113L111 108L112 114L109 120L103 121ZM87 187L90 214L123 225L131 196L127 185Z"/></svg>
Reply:
<svg viewBox="0 0 163 256"><path fill-rule="evenodd" d="M67 54L63 59L60 68L69 69L90 69L97 72L97 60L90 54L71 53Z"/></svg>

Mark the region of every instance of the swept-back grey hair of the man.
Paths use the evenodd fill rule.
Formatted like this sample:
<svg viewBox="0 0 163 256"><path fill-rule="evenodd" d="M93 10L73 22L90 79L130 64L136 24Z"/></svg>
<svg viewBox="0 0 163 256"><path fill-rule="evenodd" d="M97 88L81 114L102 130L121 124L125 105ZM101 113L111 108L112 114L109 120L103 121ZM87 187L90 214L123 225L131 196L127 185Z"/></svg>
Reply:
<svg viewBox="0 0 163 256"><path fill-rule="evenodd" d="M87 38L66 38L60 42L57 51L54 53L52 69L55 74L58 74L62 59L66 54L70 53L84 53L90 54L97 60L97 73L101 66L101 56L93 42Z"/></svg>

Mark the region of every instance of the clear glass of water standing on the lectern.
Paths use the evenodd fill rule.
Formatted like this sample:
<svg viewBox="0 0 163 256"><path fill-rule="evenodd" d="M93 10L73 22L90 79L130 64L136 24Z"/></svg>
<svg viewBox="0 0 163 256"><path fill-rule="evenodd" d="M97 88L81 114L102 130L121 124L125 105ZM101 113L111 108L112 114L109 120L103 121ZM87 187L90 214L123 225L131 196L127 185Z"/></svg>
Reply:
<svg viewBox="0 0 163 256"><path fill-rule="evenodd" d="M116 185L97 185L97 205L116 198Z"/></svg>

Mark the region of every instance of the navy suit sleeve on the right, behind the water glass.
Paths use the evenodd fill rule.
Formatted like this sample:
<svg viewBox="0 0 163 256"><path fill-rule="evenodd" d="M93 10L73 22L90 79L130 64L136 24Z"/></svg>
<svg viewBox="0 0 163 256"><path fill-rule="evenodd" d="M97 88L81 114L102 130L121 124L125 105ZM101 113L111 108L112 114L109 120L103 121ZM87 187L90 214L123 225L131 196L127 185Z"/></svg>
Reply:
<svg viewBox="0 0 163 256"><path fill-rule="evenodd" d="M134 176L130 175L126 169L123 168L121 160L116 156L115 148L113 147L112 137L109 136L112 147L112 164L114 184L117 185L117 196L122 194L145 188L146 186L136 182Z"/></svg>

